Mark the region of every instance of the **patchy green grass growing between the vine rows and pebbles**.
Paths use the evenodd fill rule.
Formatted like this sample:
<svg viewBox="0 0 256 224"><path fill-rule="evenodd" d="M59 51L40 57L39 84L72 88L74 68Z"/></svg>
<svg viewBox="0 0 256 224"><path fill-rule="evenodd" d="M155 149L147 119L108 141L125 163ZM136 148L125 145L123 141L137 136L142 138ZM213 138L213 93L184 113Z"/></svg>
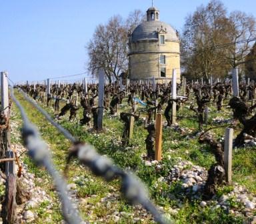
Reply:
<svg viewBox="0 0 256 224"><path fill-rule="evenodd" d="M67 156L67 150L71 147L71 144L63 135L59 134L57 130L47 121L43 115L41 115L36 109L34 109L27 101L23 99L20 94L17 94L17 98L21 101L21 104L25 107L26 113L29 116L31 122L35 123L39 127L39 131L42 133L42 137L47 143L51 152L53 153L53 161L59 171L63 171L65 168L65 157ZM127 105L124 101L124 106L121 111L128 111ZM227 102L224 102L226 105ZM53 115L53 110L46 108L48 113ZM139 108L140 109L140 108ZM17 107L13 107L13 110L17 112ZM216 109L211 105L211 113L209 116L209 122L213 117L229 117L230 111L225 108L225 113L217 113ZM187 119L178 119L181 127L191 129L193 133L197 131L197 121L193 117L193 111L183 107L179 111L179 116L186 116ZM79 117L82 116L82 110L79 110ZM144 115L143 115L144 116ZM15 119L20 120L19 115ZM105 132L103 133L89 133L85 127L79 125L79 119L73 122L69 122L66 117L61 119L60 123L68 129L72 135L84 141L94 145L97 151L102 155L111 157L115 164L124 169L131 169L134 171L149 187L149 193L151 198L157 205L162 206L168 213L169 209L177 205L177 202L169 199L167 195L179 195L181 191L181 183L179 181L167 185L165 182L158 181L159 177L165 177L173 165L177 164L177 158L185 159L193 162L195 165L200 165L209 169L209 167L215 163L215 158L211 153L209 146L200 145L195 139L185 139L180 133L173 129L163 128L163 161L162 168L156 169L155 166L146 167L142 160L142 155L146 153L145 150L145 138L147 131L141 125L141 121L135 123L134 136L130 144L127 147L121 146L121 133L123 129L123 123L119 120L119 117L111 118L108 113L105 113L103 120ZM208 125L207 128L214 127ZM215 134L216 138L223 137L225 129L213 129L211 132ZM237 134L238 131L236 130ZM237 149L233 152L233 181L245 185L249 191L256 193L256 152L253 148ZM171 159L169 159L171 158ZM47 193L53 195L54 205L51 212L51 221L58 223L61 220L61 213L59 210L59 202L57 195L52 191L51 179L47 173L38 169L29 157L24 157L24 162L29 167L29 172L35 173L37 177L47 179L46 183L37 183L40 187L44 187ZM189 167L188 167L189 168ZM79 177L77 179L77 177ZM76 178L74 181L73 179ZM94 205L94 208L82 206L80 207L81 216L89 221L97 221L103 217L109 217L105 223L115 223L111 215L114 211L125 211L127 213L135 213L136 209L127 205L125 199L122 197L117 198L115 205L110 209L107 209L105 204L101 204L100 200L111 189L117 191L119 189L119 181L113 181L111 183L105 183L102 179L91 175L87 169L79 166L77 161L71 163L69 167L68 183L75 182L77 184L77 193L79 197L87 199L89 203ZM219 190L219 195L229 192L230 189L223 188ZM91 195L97 195L97 197L90 197ZM175 223L243 223L241 217L233 217L233 215L226 214L221 209L212 211L209 208L202 209L199 207L197 201L187 200L183 198L183 206L177 213L177 215L170 215ZM42 205L41 207L44 207ZM43 210L38 209L39 217L35 223L43 223L45 216ZM89 215L88 215L89 214ZM132 223L131 217L123 217L119 219L118 223ZM97 222L98 223L98 222ZM99 221L99 223L104 223ZM145 218L145 221L141 223L151 223L149 217Z"/></svg>

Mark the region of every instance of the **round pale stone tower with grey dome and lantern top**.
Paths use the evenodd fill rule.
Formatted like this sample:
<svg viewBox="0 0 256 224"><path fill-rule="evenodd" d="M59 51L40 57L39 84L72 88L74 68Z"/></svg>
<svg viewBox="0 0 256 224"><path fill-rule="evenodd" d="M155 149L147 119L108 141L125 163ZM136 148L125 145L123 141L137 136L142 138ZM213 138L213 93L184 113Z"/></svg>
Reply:
<svg viewBox="0 0 256 224"><path fill-rule="evenodd" d="M173 69L179 81L180 51L177 31L159 21L159 10L150 7L147 21L129 35L129 77L131 80L171 78Z"/></svg>

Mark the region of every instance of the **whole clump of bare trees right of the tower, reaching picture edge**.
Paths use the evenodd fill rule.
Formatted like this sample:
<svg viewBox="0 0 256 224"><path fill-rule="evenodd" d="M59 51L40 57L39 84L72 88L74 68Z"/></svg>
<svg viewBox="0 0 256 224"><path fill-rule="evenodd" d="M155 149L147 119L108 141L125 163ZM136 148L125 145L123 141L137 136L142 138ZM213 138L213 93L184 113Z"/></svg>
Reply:
<svg viewBox="0 0 256 224"><path fill-rule="evenodd" d="M195 76L223 76L243 69L256 40L255 18L241 11L227 15L223 3L212 0L186 19L182 38L183 66Z"/></svg>

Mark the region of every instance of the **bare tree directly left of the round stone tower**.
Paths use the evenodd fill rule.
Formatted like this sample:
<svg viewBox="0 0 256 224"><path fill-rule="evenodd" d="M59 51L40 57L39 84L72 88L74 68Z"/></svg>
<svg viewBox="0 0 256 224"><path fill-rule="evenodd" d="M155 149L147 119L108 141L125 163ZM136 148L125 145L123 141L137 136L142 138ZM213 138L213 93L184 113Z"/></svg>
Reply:
<svg viewBox="0 0 256 224"><path fill-rule="evenodd" d="M97 75L99 69L104 69L105 75L112 81L118 79L121 73L128 69L128 33L133 31L143 20L143 13L135 10L124 20L116 15L105 25L98 25L93 38L86 46L89 54L88 69Z"/></svg>

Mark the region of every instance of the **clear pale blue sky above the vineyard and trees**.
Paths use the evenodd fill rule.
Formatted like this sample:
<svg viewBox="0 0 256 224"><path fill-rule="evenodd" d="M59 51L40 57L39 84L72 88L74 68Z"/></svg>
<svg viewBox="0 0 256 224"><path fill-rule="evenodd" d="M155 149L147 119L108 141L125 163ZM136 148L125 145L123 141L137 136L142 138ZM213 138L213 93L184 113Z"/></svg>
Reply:
<svg viewBox="0 0 256 224"><path fill-rule="evenodd" d="M160 19L178 31L202 0L155 0ZM228 11L256 16L255 0L224 0ZM146 11L151 0L0 0L0 71L13 81L34 81L84 72L85 45L109 17ZM79 78L79 77L77 77Z"/></svg>

